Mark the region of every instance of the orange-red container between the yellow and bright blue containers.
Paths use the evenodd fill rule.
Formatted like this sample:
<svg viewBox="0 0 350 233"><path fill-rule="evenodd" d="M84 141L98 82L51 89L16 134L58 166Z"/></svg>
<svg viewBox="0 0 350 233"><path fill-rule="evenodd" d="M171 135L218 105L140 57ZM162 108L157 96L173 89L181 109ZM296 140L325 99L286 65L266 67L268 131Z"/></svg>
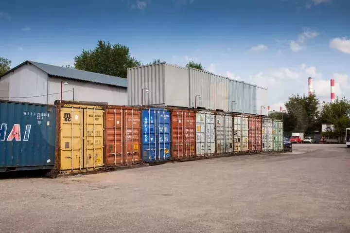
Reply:
<svg viewBox="0 0 350 233"><path fill-rule="evenodd" d="M105 109L105 166L127 166L142 162L141 110L121 106Z"/></svg>

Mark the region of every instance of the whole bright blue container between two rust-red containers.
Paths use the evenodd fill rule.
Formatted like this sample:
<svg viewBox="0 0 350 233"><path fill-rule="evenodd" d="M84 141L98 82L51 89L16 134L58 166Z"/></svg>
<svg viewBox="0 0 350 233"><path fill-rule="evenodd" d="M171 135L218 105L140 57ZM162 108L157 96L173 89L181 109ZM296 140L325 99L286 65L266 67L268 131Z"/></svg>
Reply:
<svg viewBox="0 0 350 233"><path fill-rule="evenodd" d="M171 113L160 108L142 111L142 160L158 162L171 159Z"/></svg>

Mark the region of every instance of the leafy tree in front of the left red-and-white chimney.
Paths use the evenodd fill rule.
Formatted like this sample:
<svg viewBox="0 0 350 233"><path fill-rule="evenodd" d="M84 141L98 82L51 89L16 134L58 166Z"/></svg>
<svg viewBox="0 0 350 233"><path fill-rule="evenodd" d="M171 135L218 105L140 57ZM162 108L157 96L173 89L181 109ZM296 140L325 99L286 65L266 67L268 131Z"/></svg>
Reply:
<svg viewBox="0 0 350 233"><path fill-rule="evenodd" d="M311 132L319 129L317 125L319 101L315 95L292 95L284 105L288 115L286 119L293 128L292 131Z"/></svg>

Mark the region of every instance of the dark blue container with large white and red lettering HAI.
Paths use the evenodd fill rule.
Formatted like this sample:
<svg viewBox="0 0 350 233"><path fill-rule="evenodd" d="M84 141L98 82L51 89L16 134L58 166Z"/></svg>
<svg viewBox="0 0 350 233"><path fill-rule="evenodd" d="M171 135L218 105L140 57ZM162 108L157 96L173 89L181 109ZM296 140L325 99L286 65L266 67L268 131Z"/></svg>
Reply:
<svg viewBox="0 0 350 233"><path fill-rule="evenodd" d="M51 169L56 108L0 102L0 171Z"/></svg>

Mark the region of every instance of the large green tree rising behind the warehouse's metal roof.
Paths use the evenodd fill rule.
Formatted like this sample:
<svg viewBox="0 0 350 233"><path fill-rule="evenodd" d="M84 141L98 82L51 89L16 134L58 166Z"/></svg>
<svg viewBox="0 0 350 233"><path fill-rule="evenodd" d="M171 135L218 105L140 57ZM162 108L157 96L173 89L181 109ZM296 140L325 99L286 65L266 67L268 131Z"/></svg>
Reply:
<svg viewBox="0 0 350 233"><path fill-rule="evenodd" d="M83 50L74 57L75 68L78 70L103 73L126 78L127 68L140 66L140 62L131 56L129 47L121 44L110 44L99 40L93 50Z"/></svg>

